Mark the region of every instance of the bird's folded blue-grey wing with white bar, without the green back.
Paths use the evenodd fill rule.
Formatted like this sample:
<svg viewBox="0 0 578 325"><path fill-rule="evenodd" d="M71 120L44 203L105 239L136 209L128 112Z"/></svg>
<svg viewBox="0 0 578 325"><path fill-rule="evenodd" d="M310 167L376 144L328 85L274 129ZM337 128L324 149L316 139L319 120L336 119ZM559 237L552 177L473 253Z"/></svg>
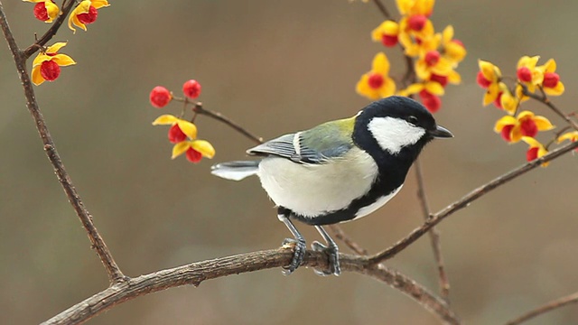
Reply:
<svg viewBox="0 0 578 325"><path fill-rule="evenodd" d="M290 159L295 163L325 163L330 158L337 158L348 153L353 146L351 142L340 143L332 140L331 135L326 135L322 139L309 139L309 141L303 141L302 135L302 132L282 135L247 150L247 153L275 155Z"/></svg>

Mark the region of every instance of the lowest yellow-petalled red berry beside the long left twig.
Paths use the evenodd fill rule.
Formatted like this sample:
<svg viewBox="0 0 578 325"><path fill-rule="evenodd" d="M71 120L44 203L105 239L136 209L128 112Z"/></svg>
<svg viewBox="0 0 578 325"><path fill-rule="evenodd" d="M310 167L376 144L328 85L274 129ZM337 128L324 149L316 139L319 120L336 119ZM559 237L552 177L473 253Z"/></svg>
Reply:
<svg viewBox="0 0 578 325"><path fill-rule="evenodd" d="M38 86L48 80L53 81L61 75L61 67L76 64L70 56L60 54L58 51L66 45L66 42L57 42L49 46L46 51L38 53L33 60L33 83Z"/></svg>

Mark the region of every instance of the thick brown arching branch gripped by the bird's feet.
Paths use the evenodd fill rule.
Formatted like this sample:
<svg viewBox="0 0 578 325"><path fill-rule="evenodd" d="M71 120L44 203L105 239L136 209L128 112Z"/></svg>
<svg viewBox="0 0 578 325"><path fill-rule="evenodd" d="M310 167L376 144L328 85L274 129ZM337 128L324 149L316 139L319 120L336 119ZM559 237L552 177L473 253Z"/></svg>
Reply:
<svg viewBox="0 0 578 325"><path fill-rule="evenodd" d="M135 299L144 294L158 292L172 287L192 284L198 286L205 280L216 279L231 274L243 274L288 265L293 257L293 251L279 248L267 251L232 255L182 265L152 274L144 274L127 279L123 283L115 283L106 290L98 292L83 302L70 307L66 311L43 322L43 325L79 324L98 315L102 311L116 306L121 302ZM304 266L327 268L327 255L308 251L303 261ZM368 259L354 255L340 255L342 271L366 274L372 278L389 284L406 293L420 303L428 311L432 311L440 320L447 324L459 324L456 315L443 300L435 297L423 286L391 270L384 265L368 265ZM281 274L279 274L281 276Z"/></svg>

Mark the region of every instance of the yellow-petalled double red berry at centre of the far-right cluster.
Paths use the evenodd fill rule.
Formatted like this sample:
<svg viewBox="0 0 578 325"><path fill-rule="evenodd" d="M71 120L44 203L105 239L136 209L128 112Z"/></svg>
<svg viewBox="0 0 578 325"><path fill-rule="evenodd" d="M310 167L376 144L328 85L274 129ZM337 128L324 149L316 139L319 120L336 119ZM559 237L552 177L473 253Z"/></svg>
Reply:
<svg viewBox="0 0 578 325"><path fill-rule="evenodd" d="M503 116L494 125L494 131L502 135L509 143L517 143L523 137L533 138L538 131L547 131L555 126L544 116L535 116L530 111L523 111L514 116Z"/></svg>

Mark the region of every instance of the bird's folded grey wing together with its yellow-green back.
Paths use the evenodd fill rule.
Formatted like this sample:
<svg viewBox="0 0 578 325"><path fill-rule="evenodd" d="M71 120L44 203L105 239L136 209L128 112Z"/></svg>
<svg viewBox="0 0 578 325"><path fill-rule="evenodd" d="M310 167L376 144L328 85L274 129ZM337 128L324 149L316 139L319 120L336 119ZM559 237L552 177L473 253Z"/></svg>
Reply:
<svg viewBox="0 0 578 325"><path fill-rule="evenodd" d="M282 135L247 150L248 154L276 155L295 163L325 163L348 153L354 145L351 140L353 118L328 122L314 128Z"/></svg>

